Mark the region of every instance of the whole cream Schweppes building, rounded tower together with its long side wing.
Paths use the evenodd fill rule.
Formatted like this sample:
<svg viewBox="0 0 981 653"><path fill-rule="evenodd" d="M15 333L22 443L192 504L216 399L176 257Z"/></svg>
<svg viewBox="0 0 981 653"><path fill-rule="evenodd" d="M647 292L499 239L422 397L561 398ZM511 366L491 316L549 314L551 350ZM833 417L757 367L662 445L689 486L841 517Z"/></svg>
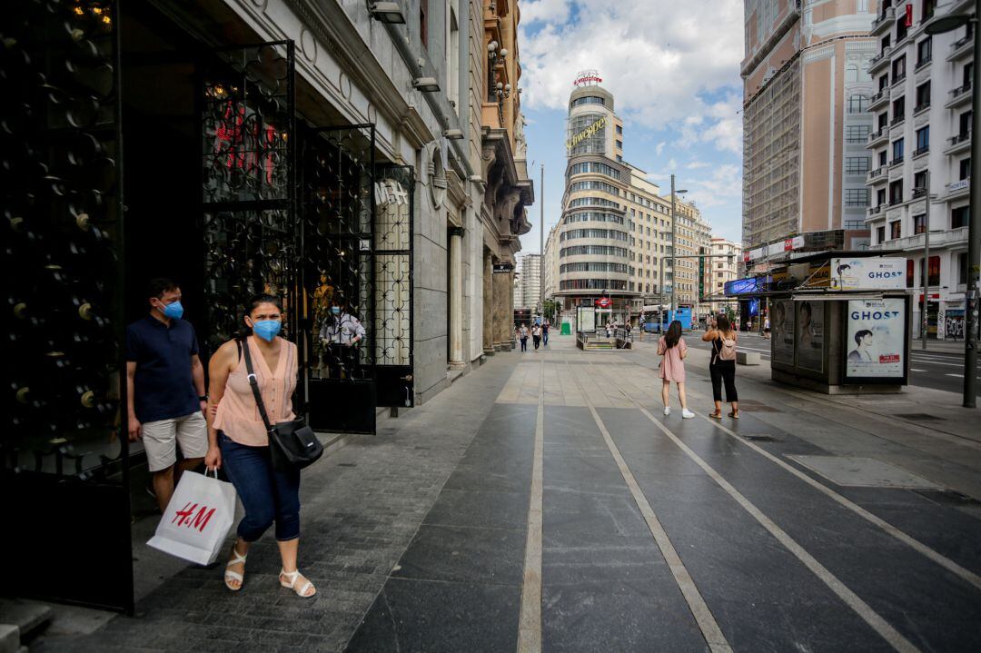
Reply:
<svg viewBox="0 0 981 653"><path fill-rule="evenodd" d="M623 122L600 81L595 72L580 74L569 98L562 216L549 234L558 260L551 293L568 312L608 297L609 317L628 320L645 303L669 302L675 282L678 304L697 310L698 260L672 268L671 199L624 161ZM695 204L677 198L676 215L679 255L706 253L709 227Z"/></svg>

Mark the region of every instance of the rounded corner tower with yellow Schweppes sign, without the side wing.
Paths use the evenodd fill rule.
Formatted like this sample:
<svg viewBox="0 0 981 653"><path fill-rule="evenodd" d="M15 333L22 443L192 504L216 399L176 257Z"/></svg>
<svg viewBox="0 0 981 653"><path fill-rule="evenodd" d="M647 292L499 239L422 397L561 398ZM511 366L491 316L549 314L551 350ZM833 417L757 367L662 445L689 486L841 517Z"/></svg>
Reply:
<svg viewBox="0 0 981 653"><path fill-rule="evenodd" d="M629 300L641 296L630 287L630 233L622 202L630 170L622 163L622 133L609 91L586 85L572 92L555 289L567 310L593 306L605 291L613 314L625 316Z"/></svg>

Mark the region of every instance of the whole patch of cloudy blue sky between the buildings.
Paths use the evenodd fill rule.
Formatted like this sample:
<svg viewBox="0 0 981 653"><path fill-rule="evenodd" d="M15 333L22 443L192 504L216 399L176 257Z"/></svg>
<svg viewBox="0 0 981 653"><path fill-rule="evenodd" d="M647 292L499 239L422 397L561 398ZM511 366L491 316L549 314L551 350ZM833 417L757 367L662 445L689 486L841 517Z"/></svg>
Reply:
<svg viewBox="0 0 981 653"><path fill-rule="evenodd" d="M690 192L713 233L740 240L743 1L520 0L518 40L529 176L545 235L561 213L566 104L595 69L624 121L624 158L669 194ZM534 167L532 162L534 161ZM544 164L544 192L540 165ZM541 205L524 252L539 251Z"/></svg>

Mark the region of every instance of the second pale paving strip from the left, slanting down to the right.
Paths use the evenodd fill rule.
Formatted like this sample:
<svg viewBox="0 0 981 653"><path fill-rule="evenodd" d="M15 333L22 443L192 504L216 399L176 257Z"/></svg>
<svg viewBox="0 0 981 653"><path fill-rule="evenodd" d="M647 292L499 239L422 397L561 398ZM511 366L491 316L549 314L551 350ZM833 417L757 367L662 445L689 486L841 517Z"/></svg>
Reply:
<svg viewBox="0 0 981 653"><path fill-rule="evenodd" d="M566 364L569 374L572 375L576 382L580 382L580 378L576 375L572 366ZM592 364L590 367L593 367ZM636 405L636 402L627 397L626 394L621 392L628 401ZM606 425L599 418L599 413L596 412L593 401L590 399L589 392L583 392L583 396L586 398L586 405L590 409L590 413L593 415L593 420L596 423L596 427L599 428L599 432L602 433L603 441L606 442L606 447L609 449L610 454L613 456L613 460L616 462L617 467L620 469L620 475L627 483L627 487L630 488L630 493L634 497L634 501L637 503L637 507L641 510L641 514L644 515L644 521L647 523L647 527L650 529L650 534L654 536L654 541L657 543L657 548L660 549L661 555L664 556L664 561L668 565L668 569L671 570L671 575L675 578L675 582L678 583L678 588L681 590L682 595L685 597L685 601L688 602L688 607L692 611L692 616L695 617L695 621L698 628L701 630L702 636L705 638L705 642L708 644L708 648L717 653L731 653L732 647L726 640L724 634L722 634L722 628L719 628L718 623L715 621L715 617L712 616L711 610L708 609L708 605L705 600L701 597L701 592L698 591L698 587L695 584L695 580L692 575L688 573L688 569L685 567L685 563L682 562L681 556L678 555L678 551L675 550L674 544L671 543L671 539L668 537L667 531L661 526L660 521L654 514L653 509L647 502L647 498L644 496L644 492L641 490L641 486L637 483L637 479L634 477L633 472L627 466L627 462L620 455L620 450L617 448L616 443L613 442L613 438L610 436L609 431L606 429Z"/></svg>

